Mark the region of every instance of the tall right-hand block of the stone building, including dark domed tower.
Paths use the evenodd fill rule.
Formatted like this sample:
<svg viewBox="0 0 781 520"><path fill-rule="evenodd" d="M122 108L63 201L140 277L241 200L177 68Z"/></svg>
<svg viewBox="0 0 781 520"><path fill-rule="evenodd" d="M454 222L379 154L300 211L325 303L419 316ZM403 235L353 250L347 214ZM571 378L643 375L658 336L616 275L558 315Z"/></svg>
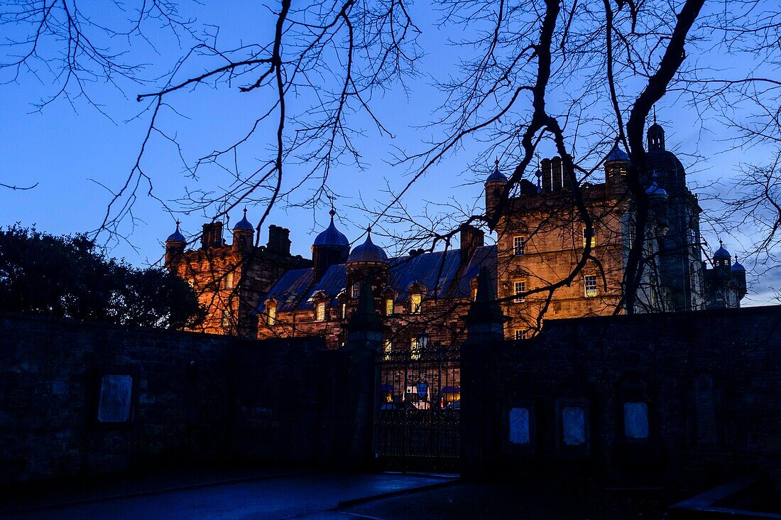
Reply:
<svg viewBox="0 0 781 520"><path fill-rule="evenodd" d="M686 188L686 171L665 149L664 129L647 131L646 170L649 202L644 238L644 275L636 312L670 312L740 307L746 294L745 269L731 264L723 247L713 268L701 260L701 208ZM590 228L567 185L562 160L543 160L537 185L519 184L517 195L499 208L497 296L510 317L508 338L523 339L539 330L541 319L619 314L622 279L635 238L637 211L630 201L626 173L629 156L615 145L604 158L604 182L583 182L580 197ZM486 208L501 203L507 178L498 170L487 178ZM586 251L588 247L588 251ZM584 253L586 259L583 260ZM570 277L583 261L583 269ZM552 286L551 286L552 285ZM546 289L549 288L549 289Z"/></svg>

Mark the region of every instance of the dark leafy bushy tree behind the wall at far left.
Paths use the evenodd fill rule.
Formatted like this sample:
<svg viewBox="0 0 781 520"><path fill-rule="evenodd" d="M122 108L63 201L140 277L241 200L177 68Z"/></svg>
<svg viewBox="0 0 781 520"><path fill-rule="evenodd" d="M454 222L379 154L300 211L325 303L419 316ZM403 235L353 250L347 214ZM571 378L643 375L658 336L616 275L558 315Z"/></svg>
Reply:
<svg viewBox="0 0 781 520"><path fill-rule="evenodd" d="M0 310L183 328L202 318L187 282L159 267L106 258L84 235L0 231Z"/></svg>

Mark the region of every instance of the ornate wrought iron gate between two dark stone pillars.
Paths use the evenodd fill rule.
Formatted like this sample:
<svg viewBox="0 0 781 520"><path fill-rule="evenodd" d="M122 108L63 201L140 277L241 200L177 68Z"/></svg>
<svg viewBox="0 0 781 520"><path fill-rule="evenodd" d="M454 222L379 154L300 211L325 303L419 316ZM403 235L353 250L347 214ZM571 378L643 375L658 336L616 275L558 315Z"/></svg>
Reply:
<svg viewBox="0 0 781 520"><path fill-rule="evenodd" d="M460 351L387 353L380 363L374 453L383 469L457 471L460 457Z"/></svg>

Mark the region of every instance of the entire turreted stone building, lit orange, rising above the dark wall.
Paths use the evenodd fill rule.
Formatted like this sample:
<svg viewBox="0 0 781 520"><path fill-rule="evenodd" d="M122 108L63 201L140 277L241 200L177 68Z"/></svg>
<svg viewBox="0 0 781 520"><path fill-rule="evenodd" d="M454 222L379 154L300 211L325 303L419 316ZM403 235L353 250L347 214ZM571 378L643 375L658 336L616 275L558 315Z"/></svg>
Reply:
<svg viewBox="0 0 781 520"><path fill-rule="evenodd" d="M732 264L723 247L712 268L701 260L701 208L655 122L647 131L647 147L645 264L634 310L739 307L745 270ZM615 145L603 163L604 182L584 181L576 191L560 157L542 160L537 184L523 179L504 201L508 179L497 164L485 181L487 213L501 205L491 230L497 233L495 246L485 246L483 231L467 226L461 249L388 258L369 231L366 242L351 250L332 210L329 226L312 244L311 262L290 255L284 228L271 226L268 245L253 246L254 230L244 218L234 226L230 246L217 222L204 225L201 249L187 253L177 228L166 241L166 266L190 281L209 308L206 332L255 335L257 326L260 338L322 335L332 349L344 342L359 283L369 280L387 326L386 351L414 352L460 344L464 306L485 265L508 317L506 337L523 339L540 329L543 316L625 312L622 279L637 214L626 184L629 156ZM578 210L578 196L590 226ZM583 269L571 276L580 261Z"/></svg>

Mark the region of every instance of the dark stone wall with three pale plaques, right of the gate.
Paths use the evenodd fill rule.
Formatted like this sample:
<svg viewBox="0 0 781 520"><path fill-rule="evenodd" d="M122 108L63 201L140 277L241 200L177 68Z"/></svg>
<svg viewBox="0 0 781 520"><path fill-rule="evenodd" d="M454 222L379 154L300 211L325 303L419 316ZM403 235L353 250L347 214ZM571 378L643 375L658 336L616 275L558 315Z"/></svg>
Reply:
<svg viewBox="0 0 781 520"><path fill-rule="evenodd" d="M547 321L522 341L470 331L470 345L475 474L686 484L781 467L781 307ZM573 417L583 430L565 432Z"/></svg>

